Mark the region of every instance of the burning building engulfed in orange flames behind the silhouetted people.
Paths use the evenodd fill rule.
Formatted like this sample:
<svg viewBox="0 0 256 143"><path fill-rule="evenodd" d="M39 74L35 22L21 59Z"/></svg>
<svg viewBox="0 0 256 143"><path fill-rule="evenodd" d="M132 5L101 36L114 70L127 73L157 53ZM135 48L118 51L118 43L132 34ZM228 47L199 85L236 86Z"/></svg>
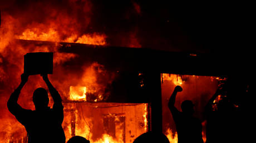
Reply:
<svg viewBox="0 0 256 143"><path fill-rule="evenodd" d="M11 4L13 8L8 7ZM139 2L119 3L117 9L123 13L112 12L115 16L107 17L109 19L104 13L113 9L106 9L104 2L93 4L83 0L26 1L24 5L13 1L0 7L3 9L0 27L1 142L26 142L26 130L6 106L23 73L26 53L54 53L53 74L49 78L62 96L65 107L62 127L66 140L80 135L91 142L132 142L152 130L164 132L170 142L177 142L175 125L167 107L175 86L181 85L184 89L176 106L185 99L192 100L196 104L196 116L204 121L207 101L221 82L234 75L230 57L225 53L175 47L171 51L163 50L170 44L189 47L181 44L184 41L174 42L184 38L183 35L163 38L157 35L157 30L152 30L156 38L147 33L140 35L147 24L139 20L145 10ZM123 11L123 5L129 7ZM121 20L115 23L116 17ZM239 81L248 85L248 79ZM40 75L30 76L18 103L23 108L34 109L32 93L40 86L46 88ZM238 99L234 96L234 100ZM205 130L203 135L205 138Z"/></svg>

